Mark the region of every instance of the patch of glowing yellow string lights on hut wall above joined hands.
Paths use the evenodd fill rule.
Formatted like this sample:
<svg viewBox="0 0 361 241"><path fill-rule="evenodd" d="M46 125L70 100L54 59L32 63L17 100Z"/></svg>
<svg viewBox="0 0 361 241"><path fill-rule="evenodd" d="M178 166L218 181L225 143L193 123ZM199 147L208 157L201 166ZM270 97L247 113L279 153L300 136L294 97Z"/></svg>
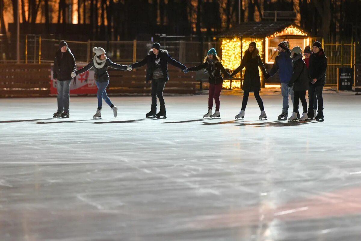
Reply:
<svg viewBox="0 0 361 241"><path fill-rule="evenodd" d="M226 69L235 70L241 63L241 40L222 39L222 65Z"/></svg>

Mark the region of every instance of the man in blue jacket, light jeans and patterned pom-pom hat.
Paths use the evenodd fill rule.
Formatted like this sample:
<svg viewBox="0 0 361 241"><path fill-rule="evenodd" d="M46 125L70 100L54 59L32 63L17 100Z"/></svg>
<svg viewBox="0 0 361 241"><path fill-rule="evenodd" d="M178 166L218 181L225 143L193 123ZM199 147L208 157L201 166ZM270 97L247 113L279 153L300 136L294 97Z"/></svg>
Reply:
<svg viewBox="0 0 361 241"><path fill-rule="evenodd" d="M287 120L288 117L288 95L291 94L291 100L293 104L293 99L295 93L292 88L288 87L288 83L290 83L292 77L292 58L291 51L289 48L290 44L288 41L280 42L278 44L278 56L274 61L273 67L269 72L269 76L272 77L278 71L279 79L281 82L281 92L283 97L283 108L282 113L277 117L278 120ZM297 112L297 115L299 113Z"/></svg>

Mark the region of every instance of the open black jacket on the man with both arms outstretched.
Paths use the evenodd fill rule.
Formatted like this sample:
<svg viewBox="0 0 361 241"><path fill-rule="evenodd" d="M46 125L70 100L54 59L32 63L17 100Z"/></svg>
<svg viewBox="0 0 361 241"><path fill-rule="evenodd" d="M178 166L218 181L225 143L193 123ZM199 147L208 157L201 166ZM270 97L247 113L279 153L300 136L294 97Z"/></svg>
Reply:
<svg viewBox="0 0 361 241"><path fill-rule="evenodd" d="M148 55L145 56L145 58L142 61L139 61L131 65L133 69L147 65L147 76L145 79L147 82L151 80L153 76L153 70L155 69L155 63L154 63L155 57L156 55L153 53L152 50L150 50ZM177 60L172 59L172 57L169 56L168 51L166 50L160 50L158 53L158 57L160 57L160 65L166 82L169 80L168 63L175 67L178 67L179 69L182 70L186 69L186 66L179 63Z"/></svg>

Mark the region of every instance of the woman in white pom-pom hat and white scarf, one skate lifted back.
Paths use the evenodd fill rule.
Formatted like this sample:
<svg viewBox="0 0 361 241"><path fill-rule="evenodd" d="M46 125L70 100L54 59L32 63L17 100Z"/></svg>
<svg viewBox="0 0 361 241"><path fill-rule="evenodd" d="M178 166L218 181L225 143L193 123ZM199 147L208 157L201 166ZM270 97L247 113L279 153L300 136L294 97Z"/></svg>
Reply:
<svg viewBox="0 0 361 241"><path fill-rule="evenodd" d="M93 115L93 118L94 119L101 118L101 106L103 103L103 99L110 106L110 108L113 109L114 117L117 117L118 108L114 106L114 104L110 101L105 90L109 84L108 68L110 67L113 69L132 70L132 67L130 65L121 65L121 64L113 63L112 61L110 61L110 59L106 57L105 50L103 48L95 47L93 48L93 52L95 53L95 56L92 60L90 60L89 64L71 73L71 78L74 78L78 74L87 72L91 68L94 68L94 78L96 81L95 83L96 86L98 87L98 91L96 93L98 97L98 109L96 110L95 115Z"/></svg>

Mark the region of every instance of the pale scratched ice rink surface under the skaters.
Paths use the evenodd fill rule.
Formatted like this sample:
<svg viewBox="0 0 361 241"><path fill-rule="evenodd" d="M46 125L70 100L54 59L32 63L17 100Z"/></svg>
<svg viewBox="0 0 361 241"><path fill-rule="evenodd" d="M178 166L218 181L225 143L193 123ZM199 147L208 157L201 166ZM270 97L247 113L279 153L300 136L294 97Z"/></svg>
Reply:
<svg viewBox="0 0 361 241"><path fill-rule="evenodd" d="M324 122L277 121L280 95L0 99L1 241L360 241L361 96L324 94ZM301 107L300 107L301 108ZM213 108L214 109L214 108ZM291 115L292 104L290 101Z"/></svg>

